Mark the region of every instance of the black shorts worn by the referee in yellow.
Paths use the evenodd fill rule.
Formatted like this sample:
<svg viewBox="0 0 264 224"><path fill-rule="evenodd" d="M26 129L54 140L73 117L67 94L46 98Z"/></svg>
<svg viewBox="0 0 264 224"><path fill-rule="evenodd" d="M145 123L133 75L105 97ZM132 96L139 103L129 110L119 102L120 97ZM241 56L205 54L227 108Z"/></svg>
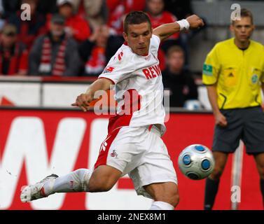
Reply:
<svg viewBox="0 0 264 224"><path fill-rule="evenodd" d="M264 153L264 112L260 106L221 110L227 127L214 128L213 151L234 153L242 139L247 154Z"/></svg>

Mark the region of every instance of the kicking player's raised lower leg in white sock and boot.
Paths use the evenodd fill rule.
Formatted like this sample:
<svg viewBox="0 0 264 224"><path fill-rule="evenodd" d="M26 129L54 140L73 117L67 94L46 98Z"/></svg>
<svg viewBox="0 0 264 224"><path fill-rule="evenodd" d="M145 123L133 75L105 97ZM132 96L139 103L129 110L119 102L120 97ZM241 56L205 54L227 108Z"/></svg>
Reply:
<svg viewBox="0 0 264 224"><path fill-rule="evenodd" d="M70 174L58 177L55 174L47 176L42 181L23 188L20 195L22 202L31 202L54 193L74 193L88 191L88 183L92 171L77 169Z"/></svg>

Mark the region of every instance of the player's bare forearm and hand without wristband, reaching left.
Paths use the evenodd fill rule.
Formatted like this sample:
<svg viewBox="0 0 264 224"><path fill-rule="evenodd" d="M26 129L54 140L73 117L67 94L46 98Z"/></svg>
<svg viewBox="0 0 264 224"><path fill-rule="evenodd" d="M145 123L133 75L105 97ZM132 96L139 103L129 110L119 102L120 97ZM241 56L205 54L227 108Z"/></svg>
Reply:
<svg viewBox="0 0 264 224"><path fill-rule="evenodd" d="M90 102L94 100L95 92L99 90L109 90L111 85L113 85L112 81L107 78L99 78L95 82L92 83L92 85L89 86L88 90L78 95L76 98L76 102L74 104L71 104L71 106L78 106L83 111L88 111Z"/></svg>

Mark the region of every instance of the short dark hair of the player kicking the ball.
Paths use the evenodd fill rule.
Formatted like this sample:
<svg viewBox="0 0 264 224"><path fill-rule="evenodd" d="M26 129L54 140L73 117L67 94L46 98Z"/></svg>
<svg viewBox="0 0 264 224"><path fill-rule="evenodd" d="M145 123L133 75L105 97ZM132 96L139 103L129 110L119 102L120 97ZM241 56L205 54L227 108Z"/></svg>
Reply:
<svg viewBox="0 0 264 224"><path fill-rule="evenodd" d="M148 22L151 26L151 20L148 15L142 11L133 11L125 16L124 20L124 32L127 34L128 25L138 25L143 22Z"/></svg>

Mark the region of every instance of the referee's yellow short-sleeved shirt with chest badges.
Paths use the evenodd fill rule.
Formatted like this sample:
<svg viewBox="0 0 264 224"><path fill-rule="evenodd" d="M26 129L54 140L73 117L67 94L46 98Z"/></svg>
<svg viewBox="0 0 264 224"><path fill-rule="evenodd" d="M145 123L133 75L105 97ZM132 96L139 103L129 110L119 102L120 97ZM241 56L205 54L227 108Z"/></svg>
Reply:
<svg viewBox="0 0 264 224"><path fill-rule="evenodd" d="M261 105L264 46L250 41L249 48L240 50L235 38L217 43L204 62L202 82L216 84L219 109Z"/></svg>

